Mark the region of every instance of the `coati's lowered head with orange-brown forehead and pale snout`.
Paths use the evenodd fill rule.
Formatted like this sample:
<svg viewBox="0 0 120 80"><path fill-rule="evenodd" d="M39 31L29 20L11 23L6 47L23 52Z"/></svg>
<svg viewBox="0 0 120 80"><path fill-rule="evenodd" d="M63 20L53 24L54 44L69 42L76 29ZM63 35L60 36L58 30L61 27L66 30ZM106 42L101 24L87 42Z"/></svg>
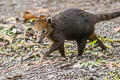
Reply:
<svg viewBox="0 0 120 80"><path fill-rule="evenodd" d="M52 32L51 22L52 19L45 15L40 15L35 20L34 28L39 31L40 42L44 39L45 36L48 36Z"/></svg>

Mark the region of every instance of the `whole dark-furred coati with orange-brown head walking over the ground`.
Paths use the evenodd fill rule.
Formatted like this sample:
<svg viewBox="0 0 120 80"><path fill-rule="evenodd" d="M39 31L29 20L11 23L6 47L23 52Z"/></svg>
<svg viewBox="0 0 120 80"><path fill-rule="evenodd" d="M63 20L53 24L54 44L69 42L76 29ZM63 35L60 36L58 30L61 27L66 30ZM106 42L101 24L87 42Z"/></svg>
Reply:
<svg viewBox="0 0 120 80"><path fill-rule="evenodd" d="M44 56L58 50L65 57L65 40L75 40L78 46L78 56L83 54L86 41L97 40L99 46L105 50L106 46L98 39L94 30L95 24L120 16L120 11L104 14L91 14L86 11L70 8L59 12L53 17L40 15L35 21L35 28L41 31L41 41L46 36L53 41Z"/></svg>

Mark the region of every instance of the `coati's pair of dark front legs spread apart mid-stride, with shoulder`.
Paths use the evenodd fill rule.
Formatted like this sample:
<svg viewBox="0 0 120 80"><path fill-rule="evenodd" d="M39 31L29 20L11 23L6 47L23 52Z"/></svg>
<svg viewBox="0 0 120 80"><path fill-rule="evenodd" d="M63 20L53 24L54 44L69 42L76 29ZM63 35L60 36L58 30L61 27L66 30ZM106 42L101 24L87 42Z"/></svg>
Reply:
<svg viewBox="0 0 120 80"><path fill-rule="evenodd" d="M61 53L61 56L65 57L64 54L64 37L61 34L54 34L52 36L54 42L51 45L50 49L45 53L45 56L49 56L50 53L52 53L53 51L59 50L59 52Z"/></svg>

